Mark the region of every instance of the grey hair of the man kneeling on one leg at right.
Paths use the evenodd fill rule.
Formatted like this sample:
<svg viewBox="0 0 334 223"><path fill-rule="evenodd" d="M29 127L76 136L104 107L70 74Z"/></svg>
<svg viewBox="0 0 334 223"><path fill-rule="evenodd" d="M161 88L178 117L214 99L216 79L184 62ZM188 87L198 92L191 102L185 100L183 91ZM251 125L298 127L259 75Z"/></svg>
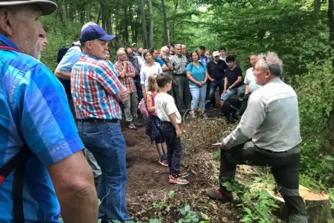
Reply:
<svg viewBox="0 0 334 223"><path fill-rule="evenodd" d="M283 75L283 62L279 59L277 53L261 53L258 55L258 62L263 71L269 70L270 73L276 77L281 77Z"/></svg>

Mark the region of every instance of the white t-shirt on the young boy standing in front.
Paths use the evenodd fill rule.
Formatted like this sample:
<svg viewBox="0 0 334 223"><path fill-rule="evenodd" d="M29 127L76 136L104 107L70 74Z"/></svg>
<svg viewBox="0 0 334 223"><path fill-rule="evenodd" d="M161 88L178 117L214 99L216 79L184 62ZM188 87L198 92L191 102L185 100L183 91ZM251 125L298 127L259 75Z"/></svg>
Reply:
<svg viewBox="0 0 334 223"><path fill-rule="evenodd" d="M155 113L164 122L170 122L170 114L175 113L177 123L181 123L182 118L174 102L174 98L168 93L158 93L155 96Z"/></svg>

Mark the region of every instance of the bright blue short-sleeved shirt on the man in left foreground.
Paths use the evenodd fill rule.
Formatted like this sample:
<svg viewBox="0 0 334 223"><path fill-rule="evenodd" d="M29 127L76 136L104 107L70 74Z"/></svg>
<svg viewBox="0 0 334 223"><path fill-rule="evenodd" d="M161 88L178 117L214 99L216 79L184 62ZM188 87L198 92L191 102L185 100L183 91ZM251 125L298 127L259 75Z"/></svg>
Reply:
<svg viewBox="0 0 334 223"><path fill-rule="evenodd" d="M3 46L16 48L0 34ZM59 222L60 204L49 167L84 148L64 88L44 64L16 51L0 51L0 168L24 141L33 152L24 181L25 222ZM0 186L0 222L12 220L11 173Z"/></svg>

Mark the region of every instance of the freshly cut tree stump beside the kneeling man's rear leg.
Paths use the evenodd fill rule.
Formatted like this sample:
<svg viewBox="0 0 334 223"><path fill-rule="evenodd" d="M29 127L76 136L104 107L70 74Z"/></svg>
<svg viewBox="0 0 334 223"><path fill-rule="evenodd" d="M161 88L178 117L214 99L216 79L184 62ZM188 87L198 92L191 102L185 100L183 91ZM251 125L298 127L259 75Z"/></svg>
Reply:
<svg viewBox="0 0 334 223"><path fill-rule="evenodd" d="M284 199L281 195L276 194L273 191L268 191L268 193L270 193L280 207L273 213L278 217L287 220L288 215L286 213ZM308 223L324 223L331 219L331 202L328 195L317 194L301 185L299 185L299 195L303 198L306 205Z"/></svg>

